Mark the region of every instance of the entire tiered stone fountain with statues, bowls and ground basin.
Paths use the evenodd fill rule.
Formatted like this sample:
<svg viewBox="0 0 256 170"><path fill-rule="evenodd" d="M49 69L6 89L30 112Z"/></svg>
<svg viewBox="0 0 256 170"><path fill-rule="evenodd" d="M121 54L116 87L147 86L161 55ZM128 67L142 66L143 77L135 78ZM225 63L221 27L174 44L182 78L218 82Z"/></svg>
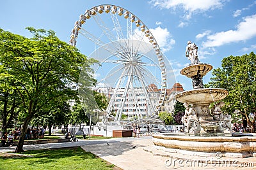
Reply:
<svg viewBox="0 0 256 170"><path fill-rule="evenodd" d="M155 148L168 153L196 156L219 152L226 157L256 156L256 138L252 135L232 136L231 116L221 112L223 102L218 101L228 95L227 90L204 88L202 78L211 71L212 66L198 60L197 50L195 43L188 41L186 57L191 64L180 71L192 79L193 90L175 96L186 108L182 117L184 133L154 134ZM215 103L215 106L210 111L211 103Z"/></svg>

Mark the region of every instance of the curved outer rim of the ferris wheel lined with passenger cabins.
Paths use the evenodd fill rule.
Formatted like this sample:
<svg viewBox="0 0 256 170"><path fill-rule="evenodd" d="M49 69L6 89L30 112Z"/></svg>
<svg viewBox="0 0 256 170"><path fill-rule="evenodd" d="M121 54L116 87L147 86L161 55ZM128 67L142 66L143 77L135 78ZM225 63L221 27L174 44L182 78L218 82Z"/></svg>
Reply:
<svg viewBox="0 0 256 170"><path fill-rule="evenodd" d="M98 11L98 8L100 9L100 11ZM143 26L143 31L141 29L141 32L144 32L145 36L151 38L151 39L149 39L149 42L156 49L155 52L156 52L156 55L157 55L157 58L158 58L158 61L159 61L159 66L161 66L161 81L162 81L161 96L160 96L161 102L159 102L159 104L157 104L157 108L155 110L155 112L157 112L161 109L161 106L164 103L164 98L166 96L166 89L167 89L166 67L165 67L165 64L164 64L163 53L161 52L161 50L160 50L161 48L159 47L159 45L156 41L156 38L154 38L150 29L148 29L148 27L140 20L140 18L138 18L136 15L134 15L134 13L132 13L129 10L126 10L125 8L122 8L120 6L116 6L116 5L113 5L113 4L100 4L100 5L97 5L97 6L93 6L89 10L86 10L84 14L81 14L79 20L75 23L74 29L72 29L72 32L71 32L71 35L70 35L70 45L76 46L76 39L77 39L78 34L79 34L79 29L81 29L82 25L86 23L86 20L89 20L91 18L90 15L92 15L92 10L97 9L95 12L96 12L96 15L98 15L98 14L101 14L101 13L111 13L112 8L115 10L115 13L117 13L120 9L123 11L123 13L124 13L124 11L130 13L131 17L133 16L136 19L136 22L137 21L140 22L140 27ZM86 16L89 16L90 18L86 18ZM128 17L128 18L130 19L130 17Z"/></svg>

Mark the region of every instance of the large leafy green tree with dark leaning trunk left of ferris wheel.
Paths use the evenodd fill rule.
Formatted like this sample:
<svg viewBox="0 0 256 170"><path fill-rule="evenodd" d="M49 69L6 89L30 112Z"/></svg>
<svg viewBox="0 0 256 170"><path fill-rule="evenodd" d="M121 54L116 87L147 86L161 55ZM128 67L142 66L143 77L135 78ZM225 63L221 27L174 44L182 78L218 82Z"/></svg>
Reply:
<svg viewBox="0 0 256 170"><path fill-rule="evenodd" d="M22 132L15 152L22 152L26 129L36 113L44 110L52 100L68 101L77 97L79 73L84 63L93 64L55 36L53 31L27 27L33 38L24 38L1 29L0 79L10 77L9 86L17 90L22 101L19 117ZM88 73L92 69L88 67ZM88 74L87 80L94 81Z"/></svg>

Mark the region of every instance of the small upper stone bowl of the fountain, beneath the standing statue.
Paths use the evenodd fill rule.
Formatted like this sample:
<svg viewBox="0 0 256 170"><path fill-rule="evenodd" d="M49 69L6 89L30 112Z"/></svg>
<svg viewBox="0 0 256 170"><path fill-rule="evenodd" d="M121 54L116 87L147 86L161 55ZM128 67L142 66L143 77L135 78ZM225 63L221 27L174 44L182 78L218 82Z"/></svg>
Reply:
<svg viewBox="0 0 256 170"><path fill-rule="evenodd" d="M200 74L201 78L205 76L209 71L211 71L212 66L210 64L199 63L199 64L191 64L187 67L184 67L180 74L187 76L188 78L192 78L193 76L197 76Z"/></svg>

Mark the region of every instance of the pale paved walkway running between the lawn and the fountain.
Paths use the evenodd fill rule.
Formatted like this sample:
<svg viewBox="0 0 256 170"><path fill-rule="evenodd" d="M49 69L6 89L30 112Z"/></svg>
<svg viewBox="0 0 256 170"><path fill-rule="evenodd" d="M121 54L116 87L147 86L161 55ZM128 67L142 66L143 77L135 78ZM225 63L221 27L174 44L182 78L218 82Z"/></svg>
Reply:
<svg viewBox="0 0 256 170"><path fill-rule="evenodd" d="M122 169L256 169L248 163L256 162L255 157L246 159L230 159L237 161L236 165L227 164L192 164L193 160L202 160L201 157L184 157L183 161L177 159L180 155L172 154L172 159L163 157L164 153L155 150L152 137L142 136L141 138L112 138L101 140L79 140L73 143L47 143L40 145L24 145L24 150L39 150L45 148L63 148L71 146L81 146L85 151L92 152L100 158L115 164ZM1 147L1 152L12 152L15 146ZM149 152L146 152L148 150ZM151 153L152 152L152 153ZM157 156L159 155L159 156ZM176 158L176 159L174 159ZM193 158L193 159L191 159ZM188 159L188 161L184 161ZM210 158L209 158L210 159ZM168 160L168 161L167 161ZM167 162L166 162L167 161ZM190 162L189 162L190 161ZM172 165L170 163L172 162ZM195 161L194 161L195 162ZM246 163L241 164L241 163ZM246 166L246 167L244 167ZM248 167L251 166L251 167Z"/></svg>

